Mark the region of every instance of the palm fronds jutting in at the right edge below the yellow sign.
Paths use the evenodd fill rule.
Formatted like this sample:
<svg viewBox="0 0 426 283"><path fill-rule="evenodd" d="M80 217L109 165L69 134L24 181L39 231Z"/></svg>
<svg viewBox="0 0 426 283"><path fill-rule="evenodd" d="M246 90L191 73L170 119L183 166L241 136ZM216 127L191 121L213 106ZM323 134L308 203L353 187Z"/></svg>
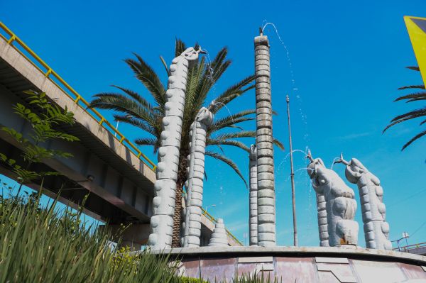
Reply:
<svg viewBox="0 0 426 283"><path fill-rule="evenodd" d="M407 67L410 70L414 70L417 72L420 72L419 67ZM400 87L399 90L402 89L422 89L422 91L417 91L413 94L406 94L403 96L398 97L397 99L395 99L395 101L403 101L405 100L405 103L409 103L409 102L413 102L413 101L422 101L422 100L426 100L426 91L424 91L425 89L425 85L424 84L420 84L420 85L410 85L407 87ZM394 101L394 102L395 102ZM391 128L392 126L404 122L404 121L408 121L414 118L419 118L419 117L423 117L426 116L426 106L420 108L420 109L415 109L413 111L410 111L408 113L396 116L395 118L393 118L391 120L391 123L386 126L386 128L383 130L383 133L388 130L388 128ZM423 120L422 122L420 122L420 126L422 126L424 123L426 123L426 120ZM408 145L412 144L415 140L418 140L419 138L421 138L423 135L426 135L426 130L425 131L421 131L420 133L418 133L417 135L415 135L413 138L411 138L411 140L408 141L408 143L405 143L405 145L403 146L403 148L401 150L405 150L405 148L408 147Z"/></svg>

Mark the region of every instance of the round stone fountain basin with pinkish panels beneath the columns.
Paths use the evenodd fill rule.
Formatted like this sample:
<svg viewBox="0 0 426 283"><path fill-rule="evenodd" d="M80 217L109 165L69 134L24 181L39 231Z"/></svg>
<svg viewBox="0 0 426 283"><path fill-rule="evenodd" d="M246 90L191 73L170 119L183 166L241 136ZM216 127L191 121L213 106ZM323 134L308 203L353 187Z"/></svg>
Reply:
<svg viewBox="0 0 426 283"><path fill-rule="evenodd" d="M228 281L262 274L278 282L426 282L426 257L391 250L326 247L201 247L153 250L180 260L187 277Z"/></svg>

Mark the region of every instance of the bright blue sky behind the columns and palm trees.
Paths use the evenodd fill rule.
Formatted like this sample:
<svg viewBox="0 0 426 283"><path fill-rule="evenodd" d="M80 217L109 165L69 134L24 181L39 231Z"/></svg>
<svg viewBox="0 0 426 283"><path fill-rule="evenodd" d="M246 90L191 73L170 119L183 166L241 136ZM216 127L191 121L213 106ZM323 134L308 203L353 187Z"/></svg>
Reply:
<svg viewBox="0 0 426 283"><path fill-rule="evenodd" d="M148 2L148 1L147 1ZM253 37L272 22L288 49L268 26L271 43L275 150L277 237L291 245L292 218L285 94L290 95L293 148L308 146L331 166L334 157L356 157L382 182L391 240L403 231L414 233L409 243L426 241L426 138L404 152L400 148L420 132L420 121L381 131L393 116L423 106L393 103L397 88L420 84L403 16L426 16L423 0L412 1L4 1L3 21L86 99L111 84L147 94L124 62L137 52L166 77L158 59L173 59L174 40L200 43L211 56L226 45L233 64L212 90L213 99L230 84L253 71ZM254 107L251 91L229 111ZM226 109L224 109L226 111ZM222 113L226 114L226 112ZM109 114L107 116L111 117ZM220 116L220 114L219 114ZM254 123L245 128L253 129ZM136 138L130 127L120 126ZM253 140L245 140L249 145ZM151 148L143 149L153 157ZM248 175L246 152L226 148ZM315 194L305 170L304 156L295 152L297 221L300 245L318 245ZM344 167L335 165L343 177ZM224 218L244 240L248 232L249 195L244 183L226 165L207 159L204 205ZM354 184L349 184L356 192ZM361 224L359 207L356 219ZM359 243L364 245L362 224Z"/></svg>

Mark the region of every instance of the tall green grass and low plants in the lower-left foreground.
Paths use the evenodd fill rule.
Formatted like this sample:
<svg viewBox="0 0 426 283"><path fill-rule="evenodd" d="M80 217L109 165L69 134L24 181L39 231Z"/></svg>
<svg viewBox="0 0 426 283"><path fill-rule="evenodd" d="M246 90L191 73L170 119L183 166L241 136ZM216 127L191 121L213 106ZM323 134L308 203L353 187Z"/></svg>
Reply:
<svg viewBox="0 0 426 283"><path fill-rule="evenodd" d="M0 195L0 282L208 282L178 276L168 255L113 248L107 233L81 223L82 211L60 211L56 201L40 208L38 199ZM253 276L232 282L271 281Z"/></svg>

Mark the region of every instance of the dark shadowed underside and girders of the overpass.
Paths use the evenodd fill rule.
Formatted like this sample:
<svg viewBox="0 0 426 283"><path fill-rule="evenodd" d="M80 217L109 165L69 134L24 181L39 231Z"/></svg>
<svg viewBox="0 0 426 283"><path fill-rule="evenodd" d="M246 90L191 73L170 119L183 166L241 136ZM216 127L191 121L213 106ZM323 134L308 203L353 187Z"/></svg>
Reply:
<svg viewBox="0 0 426 283"><path fill-rule="evenodd" d="M13 113L11 106L16 103L26 104L26 94L23 91L28 89L41 91L0 59L0 124L14 128L24 136L30 133L30 125ZM111 148L99 143L80 123L62 127L61 131L76 135L80 142L71 144L54 141L46 145L48 148L71 152L74 157L48 160L32 168L62 174L45 178L45 194L55 197L61 189L60 200L77 207L82 204L84 196L90 193L84 204L90 216L110 223L149 223L153 182L141 177L138 170L126 160L114 156ZM19 161L21 149L4 131L0 131L0 148L8 157ZM2 167L1 173L15 178L7 167ZM38 189L39 186L40 181L28 184L33 189Z"/></svg>

